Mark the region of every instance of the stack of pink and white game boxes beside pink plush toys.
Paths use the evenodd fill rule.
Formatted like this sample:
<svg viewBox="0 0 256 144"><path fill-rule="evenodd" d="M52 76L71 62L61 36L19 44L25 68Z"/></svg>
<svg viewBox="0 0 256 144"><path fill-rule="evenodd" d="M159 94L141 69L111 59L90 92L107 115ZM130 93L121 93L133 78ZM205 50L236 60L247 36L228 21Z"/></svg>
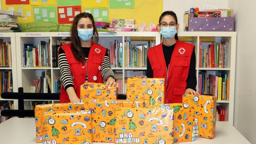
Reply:
<svg viewBox="0 0 256 144"><path fill-rule="evenodd" d="M112 19L108 29L114 32L135 32L137 29L135 23L135 19Z"/></svg>

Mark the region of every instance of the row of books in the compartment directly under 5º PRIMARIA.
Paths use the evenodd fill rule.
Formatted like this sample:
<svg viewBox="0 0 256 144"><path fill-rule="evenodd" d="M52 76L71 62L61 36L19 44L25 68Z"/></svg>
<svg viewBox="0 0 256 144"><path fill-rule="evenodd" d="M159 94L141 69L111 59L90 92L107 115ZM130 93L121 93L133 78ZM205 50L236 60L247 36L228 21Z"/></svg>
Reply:
<svg viewBox="0 0 256 144"><path fill-rule="evenodd" d="M50 67L49 43L39 41L37 46L34 46L33 44L23 44L23 66Z"/></svg>

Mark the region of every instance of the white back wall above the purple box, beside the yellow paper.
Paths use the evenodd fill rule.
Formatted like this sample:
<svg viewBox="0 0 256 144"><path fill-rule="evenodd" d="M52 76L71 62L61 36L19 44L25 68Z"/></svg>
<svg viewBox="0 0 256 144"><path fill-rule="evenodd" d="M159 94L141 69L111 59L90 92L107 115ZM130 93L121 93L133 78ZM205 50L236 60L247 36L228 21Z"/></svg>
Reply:
<svg viewBox="0 0 256 144"><path fill-rule="evenodd" d="M228 7L228 0L163 0L163 12L173 11L176 13L179 23L179 31L183 32L184 12L189 8L198 7L203 9L203 5Z"/></svg>

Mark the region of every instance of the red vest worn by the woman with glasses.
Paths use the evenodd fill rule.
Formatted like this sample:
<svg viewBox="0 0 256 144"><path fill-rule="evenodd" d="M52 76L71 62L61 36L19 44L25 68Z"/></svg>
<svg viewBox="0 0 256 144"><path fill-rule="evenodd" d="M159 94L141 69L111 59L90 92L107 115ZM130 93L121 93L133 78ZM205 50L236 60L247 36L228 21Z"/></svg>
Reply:
<svg viewBox="0 0 256 144"><path fill-rule="evenodd" d="M181 103L182 95L185 94L187 87L187 77L194 45L176 40L168 72L162 45L163 43L147 50L153 76L154 78L165 78L166 104Z"/></svg>

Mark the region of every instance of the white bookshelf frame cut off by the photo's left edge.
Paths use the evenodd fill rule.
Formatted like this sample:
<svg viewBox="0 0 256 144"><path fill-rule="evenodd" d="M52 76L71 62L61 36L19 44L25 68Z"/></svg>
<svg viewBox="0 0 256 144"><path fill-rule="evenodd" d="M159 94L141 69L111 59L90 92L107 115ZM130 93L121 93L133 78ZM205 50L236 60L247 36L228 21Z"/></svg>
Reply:
<svg viewBox="0 0 256 144"><path fill-rule="evenodd" d="M0 70L12 70L13 91L18 92L15 33L0 33L0 39L4 39L4 42L11 42L11 54L12 54L12 67L0 67ZM3 99L1 98L1 95L0 95L0 101L13 101L14 109L18 109L18 100Z"/></svg>

